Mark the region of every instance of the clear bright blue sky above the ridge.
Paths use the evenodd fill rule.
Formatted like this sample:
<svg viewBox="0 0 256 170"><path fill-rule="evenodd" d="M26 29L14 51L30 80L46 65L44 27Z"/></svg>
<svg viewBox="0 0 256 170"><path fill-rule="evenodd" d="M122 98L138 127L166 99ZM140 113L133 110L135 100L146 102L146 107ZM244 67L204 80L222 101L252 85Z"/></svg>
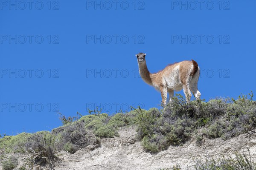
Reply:
<svg viewBox="0 0 256 170"><path fill-rule="evenodd" d="M253 0L1 0L0 34L1 134L58 127L58 111L158 107L160 92L138 77L138 52L151 72L197 61L206 101L256 93Z"/></svg>

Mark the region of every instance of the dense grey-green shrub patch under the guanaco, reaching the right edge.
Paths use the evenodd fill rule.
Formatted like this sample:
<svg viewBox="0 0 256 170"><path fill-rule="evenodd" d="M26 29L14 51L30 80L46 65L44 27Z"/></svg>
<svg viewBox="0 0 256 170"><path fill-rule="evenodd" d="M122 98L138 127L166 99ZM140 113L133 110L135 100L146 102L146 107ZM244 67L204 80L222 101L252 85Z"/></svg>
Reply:
<svg viewBox="0 0 256 170"><path fill-rule="evenodd" d="M169 145L179 145L196 136L200 145L203 136L226 140L256 128L256 102L242 95L234 99L213 99L209 102L186 103L176 95L172 103L158 110L137 110L137 131L143 147L151 153ZM201 135L198 135L202 133ZM197 134L197 135L196 135Z"/></svg>

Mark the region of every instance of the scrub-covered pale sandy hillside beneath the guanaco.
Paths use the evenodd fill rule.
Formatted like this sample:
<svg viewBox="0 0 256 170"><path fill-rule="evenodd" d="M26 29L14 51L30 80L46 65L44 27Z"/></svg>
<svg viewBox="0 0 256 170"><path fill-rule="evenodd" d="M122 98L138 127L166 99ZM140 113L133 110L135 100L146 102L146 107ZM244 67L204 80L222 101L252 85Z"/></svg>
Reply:
<svg viewBox="0 0 256 170"><path fill-rule="evenodd" d="M252 96L189 104L176 96L160 110L64 118L51 133L1 138L1 170L255 170Z"/></svg>

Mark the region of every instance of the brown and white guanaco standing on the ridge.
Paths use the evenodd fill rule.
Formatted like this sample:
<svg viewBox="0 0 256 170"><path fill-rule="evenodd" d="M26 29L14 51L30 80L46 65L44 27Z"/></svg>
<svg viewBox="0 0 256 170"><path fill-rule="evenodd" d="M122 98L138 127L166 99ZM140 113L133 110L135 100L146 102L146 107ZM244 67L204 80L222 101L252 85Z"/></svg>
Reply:
<svg viewBox="0 0 256 170"><path fill-rule="evenodd" d="M164 105L166 105L167 93L171 102L174 91L180 91L182 89L187 102L190 101L191 92L196 99L200 99L201 93L198 91L200 68L194 60L177 62L166 66L162 71L152 74L148 71L146 65L146 54L138 53L136 57L140 76L144 82L154 86L154 88L161 92Z"/></svg>

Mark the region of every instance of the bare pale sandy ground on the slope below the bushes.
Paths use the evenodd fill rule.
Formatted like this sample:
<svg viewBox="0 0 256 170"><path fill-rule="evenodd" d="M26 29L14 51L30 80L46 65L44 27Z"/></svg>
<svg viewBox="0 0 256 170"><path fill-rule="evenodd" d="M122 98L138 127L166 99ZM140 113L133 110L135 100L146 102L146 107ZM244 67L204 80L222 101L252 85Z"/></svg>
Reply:
<svg viewBox="0 0 256 170"><path fill-rule="evenodd" d="M88 146L74 154L59 151L58 156L63 161L55 170L160 170L170 168L176 162L182 169L192 170L193 158L205 160L221 154L234 156L236 150L243 153L247 148L256 161L256 133L242 134L226 141L204 138L201 147L196 145L195 139L191 139L182 146L170 146L157 154L143 150L140 142L135 139L134 127L122 128L119 135L120 137L103 139L101 145ZM20 166L25 157L17 156Z"/></svg>

